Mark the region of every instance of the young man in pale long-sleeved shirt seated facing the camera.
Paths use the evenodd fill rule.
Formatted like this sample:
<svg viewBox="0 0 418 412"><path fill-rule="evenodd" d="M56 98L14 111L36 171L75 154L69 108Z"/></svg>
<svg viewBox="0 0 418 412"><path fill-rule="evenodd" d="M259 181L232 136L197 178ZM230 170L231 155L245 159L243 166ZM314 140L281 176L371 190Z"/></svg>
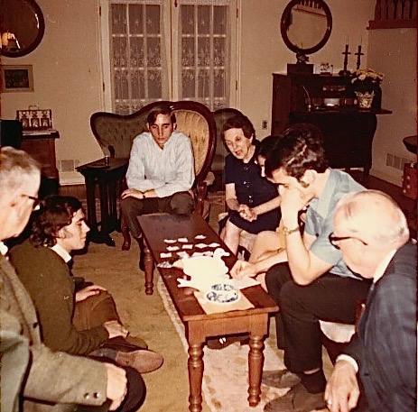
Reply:
<svg viewBox="0 0 418 412"><path fill-rule="evenodd" d="M169 106L157 106L147 116L148 132L135 137L122 193L122 213L131 234L140 244L140 269L144 270L141 227L136 216L155 212L190 215L190 194L195 179L189 137L177 132Z"/></svg>

